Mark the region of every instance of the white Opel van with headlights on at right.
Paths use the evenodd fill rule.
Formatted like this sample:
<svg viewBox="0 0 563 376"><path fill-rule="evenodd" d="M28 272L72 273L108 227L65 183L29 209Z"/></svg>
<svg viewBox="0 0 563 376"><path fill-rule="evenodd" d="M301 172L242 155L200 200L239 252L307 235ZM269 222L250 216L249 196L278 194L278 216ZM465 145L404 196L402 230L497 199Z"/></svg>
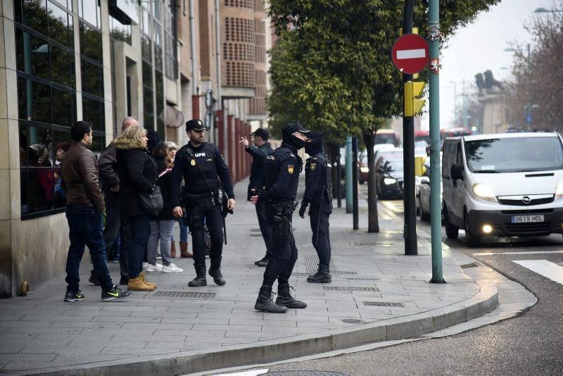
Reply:
<svg viewBox="0 0 563 376"><path fill-rule="evenodd" d="M563 142L557 133L451 137L443 144L448 238L563 233Z"/></svg>

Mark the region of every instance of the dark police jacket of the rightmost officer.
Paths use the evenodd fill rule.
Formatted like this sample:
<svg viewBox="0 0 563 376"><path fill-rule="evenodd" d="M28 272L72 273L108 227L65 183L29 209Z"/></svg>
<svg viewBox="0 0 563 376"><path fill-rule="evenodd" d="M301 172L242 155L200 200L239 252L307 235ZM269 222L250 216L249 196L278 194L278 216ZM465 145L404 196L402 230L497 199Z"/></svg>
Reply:
<svg viewBox="0 0 563 376"><path fill-rule="evenodd" d="M331 164L323 153L310 156L305 163L305 193L302 205L313 203L332 208Z"/></svg>

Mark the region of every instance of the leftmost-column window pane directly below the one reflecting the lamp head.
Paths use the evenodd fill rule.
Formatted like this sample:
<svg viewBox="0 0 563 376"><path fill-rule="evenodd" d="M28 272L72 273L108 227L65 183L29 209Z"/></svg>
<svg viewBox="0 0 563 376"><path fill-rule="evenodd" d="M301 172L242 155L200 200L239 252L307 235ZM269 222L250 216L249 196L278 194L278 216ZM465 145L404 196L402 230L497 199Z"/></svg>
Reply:
<svg viewBox="0 0 563 376"><path fill-rule="evenodd" d="M20 119L51 123L51 87L18 78Z"/></svg>

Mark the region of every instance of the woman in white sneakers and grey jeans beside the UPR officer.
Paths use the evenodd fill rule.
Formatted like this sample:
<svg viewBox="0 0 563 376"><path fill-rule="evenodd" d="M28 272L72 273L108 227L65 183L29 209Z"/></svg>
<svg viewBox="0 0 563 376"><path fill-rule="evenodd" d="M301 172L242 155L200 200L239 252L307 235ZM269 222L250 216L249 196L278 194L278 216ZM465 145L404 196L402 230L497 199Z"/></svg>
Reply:
<svg viewBox="0 0 563 376"><path fill-rule="evenodd" d="M183 272L172 263L170 256L170 245L172 240L172 230L176 224L176 218L172 214L172 197L170 196L170 173L172 172L172 161L168 155L168 146L165 142L159 142L153 147L153 158L158 166L157 184L163 194L163 209L158 213L158 217L151 218L150 234L146 246L148 267L147 272ZM162 265L156 263L158 253L158 243L160 242L160 254L163 258Z"/></svg>

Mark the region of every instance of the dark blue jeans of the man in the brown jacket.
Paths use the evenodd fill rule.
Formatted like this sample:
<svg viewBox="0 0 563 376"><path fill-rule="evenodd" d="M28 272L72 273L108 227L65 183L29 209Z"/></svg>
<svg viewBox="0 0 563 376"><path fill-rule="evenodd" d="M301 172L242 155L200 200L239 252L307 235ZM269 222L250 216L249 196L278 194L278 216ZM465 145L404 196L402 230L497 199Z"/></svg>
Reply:
<svg viewBox="0 0 563 376"><path fill-rule="evenodd" d="M68 205L66 218L70 229L68 237L70 246L66 258L67 291L77 292L80 289L80 261L84 254L84 245L88 246L94 273L105 291L112 289L113 282L106 265L106 244L103 242L103 218L96 208L90 206Z"/></svg>

